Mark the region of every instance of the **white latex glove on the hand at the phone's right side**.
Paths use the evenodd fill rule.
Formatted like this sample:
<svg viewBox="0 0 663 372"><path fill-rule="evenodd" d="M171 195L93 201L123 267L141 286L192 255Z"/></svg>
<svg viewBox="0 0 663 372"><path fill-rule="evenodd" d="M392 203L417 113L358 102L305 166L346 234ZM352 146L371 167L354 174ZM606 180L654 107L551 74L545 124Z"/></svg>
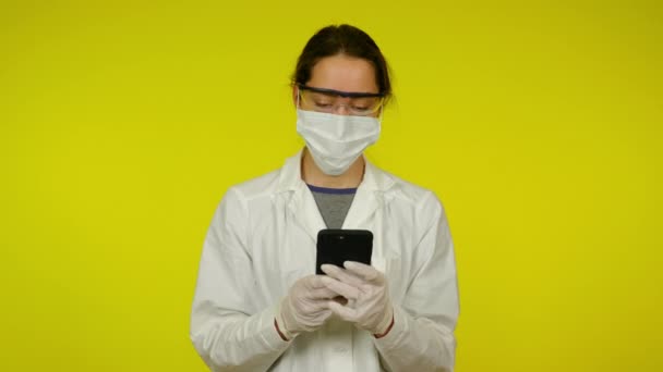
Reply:
<svg viewBox="0 0 663 372"><path fill-rule="evenodd" d="M346 261L343 266L346 270L333 264L322 265L323 272L328 275L322 282L348 299L345 306L328 301L328 308L359 328L374 335L384 335L394 319L385 275L375 268L359 262Z"/></svg>

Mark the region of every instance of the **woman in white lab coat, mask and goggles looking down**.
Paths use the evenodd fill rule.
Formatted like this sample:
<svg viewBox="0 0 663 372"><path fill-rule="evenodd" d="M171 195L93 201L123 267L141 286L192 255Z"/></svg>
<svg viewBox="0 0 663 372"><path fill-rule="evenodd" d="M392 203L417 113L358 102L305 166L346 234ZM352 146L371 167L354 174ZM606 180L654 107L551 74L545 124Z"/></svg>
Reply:
<svg viewBox="0 0 663 372"><path fill-rule="evenodd" d="M212 370L453 370L458 292L444 210L362 156L390 95L364 32L328 26L304 47L292 100L306 147L231 187L205 239L191 338ZM326 227L371 231L372 265L314 275Z"/></svg>

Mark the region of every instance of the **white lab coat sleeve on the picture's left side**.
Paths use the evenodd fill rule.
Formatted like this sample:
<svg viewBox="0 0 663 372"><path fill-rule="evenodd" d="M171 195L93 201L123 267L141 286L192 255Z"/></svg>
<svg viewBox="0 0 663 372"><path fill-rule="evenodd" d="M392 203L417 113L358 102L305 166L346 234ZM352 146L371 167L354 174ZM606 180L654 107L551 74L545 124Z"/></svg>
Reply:
<svg viewBox="0 0 663 372"><path fill-rule="evenodd" d="M191 310L190 337L212 371L266 371L288 348L275 326L276 305L252 309L249 215L239 191L228 190L203 246Z"/></svg>

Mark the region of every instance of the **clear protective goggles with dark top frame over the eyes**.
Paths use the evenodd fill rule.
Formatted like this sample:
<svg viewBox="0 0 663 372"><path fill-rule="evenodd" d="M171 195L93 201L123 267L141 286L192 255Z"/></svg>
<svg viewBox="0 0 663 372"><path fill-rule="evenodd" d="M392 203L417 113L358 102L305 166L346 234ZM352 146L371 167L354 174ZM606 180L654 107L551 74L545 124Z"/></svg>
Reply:
<svg viewBox="0 0 663 372"><path fill-rule="evenodd" d="M350 115L374 115L383 107L385 97L374 92L349 92L298 84L298 95L304 109L336 113L345 107Z"/></svg>

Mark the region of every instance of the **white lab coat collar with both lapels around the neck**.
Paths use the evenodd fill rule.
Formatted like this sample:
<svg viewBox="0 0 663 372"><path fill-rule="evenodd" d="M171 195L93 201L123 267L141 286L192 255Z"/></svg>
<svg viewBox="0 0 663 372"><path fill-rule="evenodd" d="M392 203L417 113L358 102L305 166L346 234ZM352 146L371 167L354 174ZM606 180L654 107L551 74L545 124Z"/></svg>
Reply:
<svg viewBox="0 0 663 372"><path fill-rule="evenodd" d="M288 209L293 219L313 238L326 228L312 193L301 177L301 159L303 150L289 158L281 169L277 193L287 194ZM364 177L357 188L342 228L371 230L370 221L374 213L384 206L384 193L394 185L394 178L374 166L364 157Z"/></svg>

